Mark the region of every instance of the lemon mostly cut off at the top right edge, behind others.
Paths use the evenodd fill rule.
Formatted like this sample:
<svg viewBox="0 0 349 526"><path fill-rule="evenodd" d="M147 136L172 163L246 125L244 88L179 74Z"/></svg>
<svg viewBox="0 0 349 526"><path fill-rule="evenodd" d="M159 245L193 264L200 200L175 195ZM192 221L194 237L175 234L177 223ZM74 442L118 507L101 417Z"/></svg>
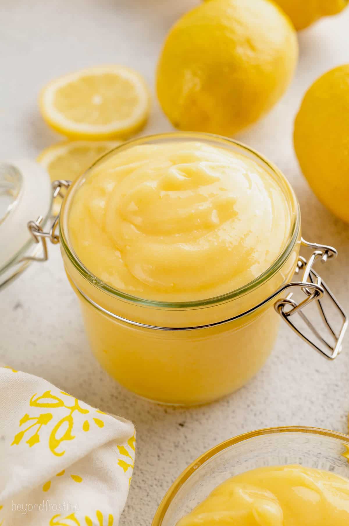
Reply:
<svg viewBox="0 0 349 526"><path fill-rule="evenodd" d="M304 29L323 16L336 15L349 0L274 0L289 15L296 29Z"/></svg>

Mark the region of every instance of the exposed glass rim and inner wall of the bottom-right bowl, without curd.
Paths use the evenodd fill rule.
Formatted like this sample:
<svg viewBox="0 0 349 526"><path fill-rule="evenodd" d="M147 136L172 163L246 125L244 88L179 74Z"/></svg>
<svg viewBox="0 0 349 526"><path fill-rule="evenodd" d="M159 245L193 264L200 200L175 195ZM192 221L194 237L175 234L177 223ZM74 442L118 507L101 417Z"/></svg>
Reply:
<svg viewBox="0 0 349 526"><path fill-rule="evenodd" d="M195 460L172 484L152 526L175 526L179 519L230 477L262 466L302 464L349 479L343 456L349 436L307 427L260 429L222 442Z"/></svg>

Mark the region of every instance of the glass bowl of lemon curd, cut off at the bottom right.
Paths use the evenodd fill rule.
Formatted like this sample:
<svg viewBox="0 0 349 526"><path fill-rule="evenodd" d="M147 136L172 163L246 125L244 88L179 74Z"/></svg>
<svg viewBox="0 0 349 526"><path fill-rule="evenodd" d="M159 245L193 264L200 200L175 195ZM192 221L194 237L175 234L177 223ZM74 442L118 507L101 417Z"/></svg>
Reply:
<svg viewBox="0 0 349 526"><path fill-rule="evenodd" d="M166 493L152 526L346 526L349 437L261 429L218 444Z"/></svg>

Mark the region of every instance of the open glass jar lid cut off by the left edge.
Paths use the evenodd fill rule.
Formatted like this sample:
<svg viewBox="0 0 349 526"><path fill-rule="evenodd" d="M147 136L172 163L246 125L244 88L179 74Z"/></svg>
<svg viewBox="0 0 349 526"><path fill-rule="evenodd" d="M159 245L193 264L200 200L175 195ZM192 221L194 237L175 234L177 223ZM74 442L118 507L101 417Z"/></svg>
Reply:
<svg viewBox="0 0 349 526"><path fill-rule="evenodd" d="M52 204L50 178L35 161L20 159L0 163L0 288L8 284L38 255L27 222L45 213L44 226Z"/></svg>

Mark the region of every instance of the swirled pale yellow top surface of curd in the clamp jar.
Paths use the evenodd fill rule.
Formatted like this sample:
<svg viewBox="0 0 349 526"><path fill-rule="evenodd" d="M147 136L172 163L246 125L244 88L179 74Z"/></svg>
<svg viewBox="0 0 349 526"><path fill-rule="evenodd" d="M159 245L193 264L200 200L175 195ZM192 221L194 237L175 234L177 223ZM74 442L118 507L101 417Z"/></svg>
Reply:
<svg viewBox="0 0 349 526"><path fill-rule="evenodd" d="M159 301L247 285L277 259L290 227L266 169L199 141L117 150L90 170L69 215L72 247L92 274Z"/></svg>

